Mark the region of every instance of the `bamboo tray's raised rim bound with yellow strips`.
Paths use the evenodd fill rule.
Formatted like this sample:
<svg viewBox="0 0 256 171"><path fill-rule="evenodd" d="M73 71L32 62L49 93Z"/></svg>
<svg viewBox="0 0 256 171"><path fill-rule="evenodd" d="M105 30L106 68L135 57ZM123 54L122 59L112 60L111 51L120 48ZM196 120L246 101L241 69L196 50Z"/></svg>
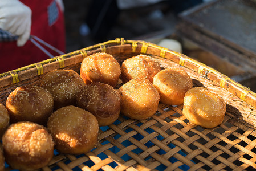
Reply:
<svg viewBox="0 0 256 171"><path fill-rule="evenodd" d="M255 92L235 82L234 80L222 74L221 72L215 70L214 68L206 66L204 63L201 63L201 62L198 62L197 60L189 58L184 54L180 54L178 52L169 50L168 48L157 46L156 44L145 42L143 40L125 40L124 38L116 38L115 40L108 40L107 42L98 43L93 46L82 48L81 50L56 56L51 59L43 60L42 62L39 62L39 63L34 63L29 66L25 66L22 68L18 68L16 70L2 73L0 74L0 87L18 83L18 82L21 82L22 80L32 78L36 75L42 75L45 72L47 72L44 69L44 66L47 66L47 64L59 63L59 68L64 68L66 66L65 60L68 58L74 58L78 55L82 55L82 58L78 61L78 63L80 63L82 62L82 59L85 58L88 55L88 53L90 53L90 51L96 50L97 48L100 48L101 52L105 52L106 49L111 46L124 47L127 45L131 46L134 52L138 51L140 47L141 54L146 54L148 48L155 48L158 50L157 53L161 58L166 58L166 54L175 55L177 56L177 59L176 60L170 59L170 60L173 60L173 62L180 64L180 66L184 66L189 68L190 70L194 70L198 74L204 76L206 79L212 80L211 78L209 78L208 76L209 74L215 75L215 77L218 79L212 80L213 82L218 84L220 87L226 89L227 91L230 91L235 96L239 97L239 99L241 99L242 101L246 101L246 103L256 108ZM152 54L152 55L156 55L156 54ZM188 63L193 64L194 66L192 67L188 65ZM196 68L194 68L195 66ZM29 72L29 74L27 72ZM232 87L233 89L231 89L230 87Z"/></svg>

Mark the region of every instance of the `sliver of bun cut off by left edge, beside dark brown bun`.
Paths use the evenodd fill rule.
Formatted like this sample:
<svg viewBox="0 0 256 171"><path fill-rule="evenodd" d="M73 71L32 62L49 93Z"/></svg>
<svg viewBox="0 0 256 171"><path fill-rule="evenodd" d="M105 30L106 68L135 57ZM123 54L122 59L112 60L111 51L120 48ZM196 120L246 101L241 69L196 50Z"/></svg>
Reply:
<svg viewBox="0 0 256 171"><path fill-rule="evenodd" d="M6 109L6 107L0 103L0 139L5 133L7 127L10 124L10 115Z"/></svg>

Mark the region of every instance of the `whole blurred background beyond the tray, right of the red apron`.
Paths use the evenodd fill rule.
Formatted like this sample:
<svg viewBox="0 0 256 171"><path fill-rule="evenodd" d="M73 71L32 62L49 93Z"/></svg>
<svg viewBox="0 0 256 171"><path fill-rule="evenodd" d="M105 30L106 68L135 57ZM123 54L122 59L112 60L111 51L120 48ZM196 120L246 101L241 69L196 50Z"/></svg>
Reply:
<svg viewBox="0 0 256 171"><path fill-rule="evenodd" d="M253 0L63 3L67 52L115 38L145 40L182 52L256 92Z"/></svg>

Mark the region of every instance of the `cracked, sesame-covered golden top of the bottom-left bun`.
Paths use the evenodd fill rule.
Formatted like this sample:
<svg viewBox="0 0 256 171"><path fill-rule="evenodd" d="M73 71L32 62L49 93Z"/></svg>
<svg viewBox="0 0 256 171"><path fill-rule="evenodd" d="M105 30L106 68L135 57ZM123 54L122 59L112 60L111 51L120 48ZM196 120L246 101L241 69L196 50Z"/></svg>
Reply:
<svg viewBox="0 0 256 171"><path fill-rule="evenodd" d="M39 156L54 146L46 127L30 121L11 124L2 141L5 150L29 152L30 156Z"/></svg>

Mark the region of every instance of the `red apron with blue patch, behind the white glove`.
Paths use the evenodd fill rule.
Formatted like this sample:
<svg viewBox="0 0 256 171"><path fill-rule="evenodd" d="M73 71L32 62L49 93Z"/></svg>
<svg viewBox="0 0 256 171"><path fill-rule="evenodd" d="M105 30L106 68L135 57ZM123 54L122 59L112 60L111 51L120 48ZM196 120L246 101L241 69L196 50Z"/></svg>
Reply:
<svg viewBox="0 0 256 171"><path fill-rule="evenodd" d="M54 0L21 0L32 11L31 35L38 36L48 44L66 51L64 15ZM46 48L48 50L48 48ZM52 55L55 52L48 50ZM22 47L16 41L0 42L0 73L49 59L30 40Z"/></svg>

